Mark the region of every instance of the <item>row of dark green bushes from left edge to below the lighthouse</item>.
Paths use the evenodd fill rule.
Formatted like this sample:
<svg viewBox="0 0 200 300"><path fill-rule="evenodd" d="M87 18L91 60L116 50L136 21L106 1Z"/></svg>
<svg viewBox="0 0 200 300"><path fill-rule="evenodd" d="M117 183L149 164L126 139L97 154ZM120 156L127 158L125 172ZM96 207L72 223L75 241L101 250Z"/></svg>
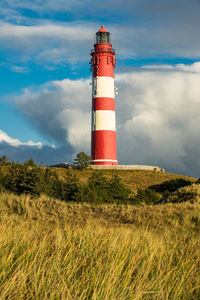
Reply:
<svg viewBox="0 0 200 300"><path fill-rule="evenodd" d="M130 190L113 174L106 178L101 172L93 171L88 183L81 183L66 170L65 176L58 177L52 168L37 166L32 159L20 163L2 163L0 191L16 195L29 194L32 197L45 194L63 201L90 203L125 203L130 201Z"/></svg>

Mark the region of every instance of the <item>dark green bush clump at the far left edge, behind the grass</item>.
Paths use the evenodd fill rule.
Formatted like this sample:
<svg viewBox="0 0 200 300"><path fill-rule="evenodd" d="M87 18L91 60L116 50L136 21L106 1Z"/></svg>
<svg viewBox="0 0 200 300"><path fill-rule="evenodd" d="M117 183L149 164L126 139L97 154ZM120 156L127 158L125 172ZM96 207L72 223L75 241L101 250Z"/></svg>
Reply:
<svg viewBox="0 0 200 300"><path fill-rule="evenodd" d="M78 180L67 174L60 180L55 171L38 167L32 159L11 163L6 172L0 173L0 191L7 190L17 195L37 197L46 194L64 201L74 200L78 192Z"/></svg>

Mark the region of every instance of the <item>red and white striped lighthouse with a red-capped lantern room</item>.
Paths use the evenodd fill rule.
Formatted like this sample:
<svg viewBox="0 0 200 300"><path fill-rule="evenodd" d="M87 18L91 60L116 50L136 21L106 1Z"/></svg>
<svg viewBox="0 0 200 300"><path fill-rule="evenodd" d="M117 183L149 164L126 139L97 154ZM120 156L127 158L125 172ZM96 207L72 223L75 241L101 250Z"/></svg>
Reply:
<svg viewBox="0 0 200 300"><path fill-rule="evenodd" d="M117 165L114 67L115 51L111 35L101 26L91 52L92 143L94 165Z"/></svg>

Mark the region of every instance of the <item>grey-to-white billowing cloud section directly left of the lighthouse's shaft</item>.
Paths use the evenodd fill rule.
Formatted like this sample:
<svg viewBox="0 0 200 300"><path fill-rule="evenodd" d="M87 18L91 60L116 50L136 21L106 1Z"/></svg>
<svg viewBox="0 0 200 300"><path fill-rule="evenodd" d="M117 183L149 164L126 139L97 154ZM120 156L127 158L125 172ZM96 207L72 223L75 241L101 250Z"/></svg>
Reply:
<svg viewBox="0 0 200 300"><path fill-rule="evenodd" d="M15 97L22 114L43 135L60 145L68 143L77 151L90 143L89 80L53 81L25 89Z"/></svg>

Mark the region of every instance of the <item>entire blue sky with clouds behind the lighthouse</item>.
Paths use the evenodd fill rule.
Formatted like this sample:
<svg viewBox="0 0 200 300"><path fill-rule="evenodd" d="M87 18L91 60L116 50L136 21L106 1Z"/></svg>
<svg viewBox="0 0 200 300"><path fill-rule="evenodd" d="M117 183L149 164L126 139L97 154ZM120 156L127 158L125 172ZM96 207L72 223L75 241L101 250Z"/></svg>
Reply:
<svg viewBox="0 0 200 300"><path fill-rule="evenodd" d="M200 177L199 0L1 0L0 156L90 154L90 51L112 33L119 164Z"/></svg>

